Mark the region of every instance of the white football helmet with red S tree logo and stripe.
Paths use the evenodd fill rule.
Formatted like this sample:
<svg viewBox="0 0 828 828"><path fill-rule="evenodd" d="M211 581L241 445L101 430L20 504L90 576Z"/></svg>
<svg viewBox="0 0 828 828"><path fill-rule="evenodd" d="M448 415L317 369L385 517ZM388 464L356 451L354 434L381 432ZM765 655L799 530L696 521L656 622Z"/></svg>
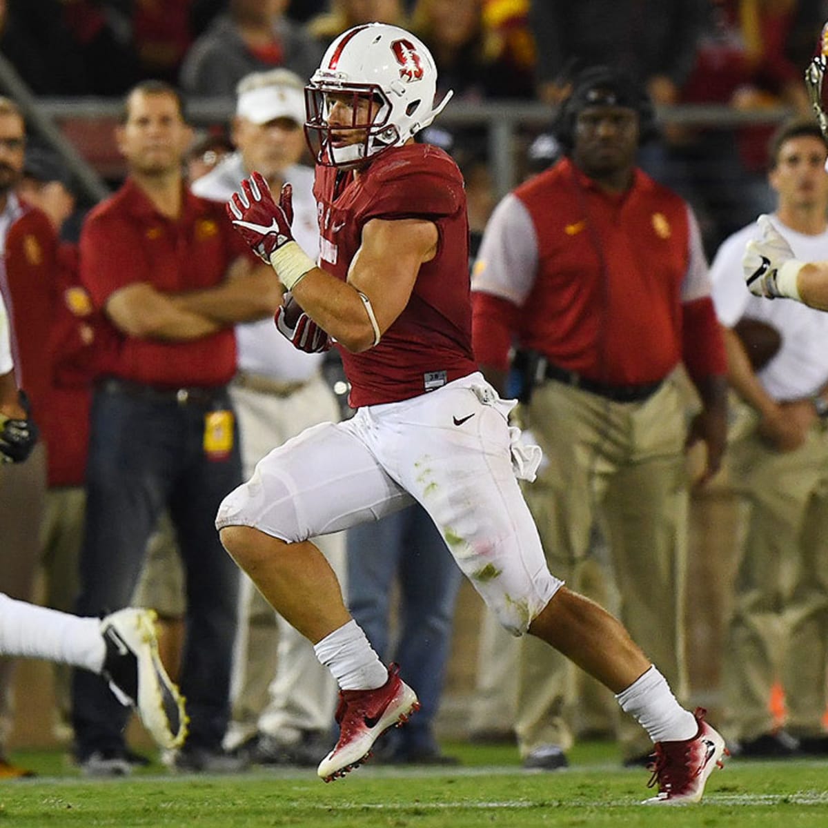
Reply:
<svg viewBox="0 0 828 828"><path fill-rule="evenodd" d="M400 146L449 102L451 92L434 106L436 85L434 58L410 32L387 23L354 26L331 43L305 88L310 152L320 164L347 167ZM330 126L330 96L348 94L353 96L350 102L346 99L354 113L351 123ZM357 112L360 98L375 104L373 117L363 123ZM359 136L356 142L354 134Z"/></svg>

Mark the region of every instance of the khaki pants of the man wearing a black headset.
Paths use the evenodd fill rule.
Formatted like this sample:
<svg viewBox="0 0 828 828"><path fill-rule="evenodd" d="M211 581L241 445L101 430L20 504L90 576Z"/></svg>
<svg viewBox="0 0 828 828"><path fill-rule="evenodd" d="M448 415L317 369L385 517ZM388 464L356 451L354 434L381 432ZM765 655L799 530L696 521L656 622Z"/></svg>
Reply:
<svg viewBox="0 0 828 828"><path fill-rule="evenodd" d="M611 402L556 382L537 388L527 427L546 463L525 488L553 575L585 583L590 532L604 529L633 640L685 695L683 596L688 492L684 398L671 380L644 402ZM522 642L517 737L522 756L543 744L571 747L575 667L546 644ZM632 719L618 719L624 758L652 749Z"/></svg>

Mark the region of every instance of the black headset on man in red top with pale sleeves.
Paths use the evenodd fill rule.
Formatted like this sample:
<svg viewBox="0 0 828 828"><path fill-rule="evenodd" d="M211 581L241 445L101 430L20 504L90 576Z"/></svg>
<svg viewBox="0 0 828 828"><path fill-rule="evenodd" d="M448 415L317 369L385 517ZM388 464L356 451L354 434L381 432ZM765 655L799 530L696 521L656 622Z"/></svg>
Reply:
<svg viewBox="0 0 828 828"><path fill-rule="evenodd" d="M596 90L607 94L590 97ZM575 146L575 120L581 109L602 103L634 109L638 113L639 146L658 137L656 113L649 95L629 75L609 66L590 66L572 81L572 91L558 108L552 122L552 131L567 154Z"/></svg>

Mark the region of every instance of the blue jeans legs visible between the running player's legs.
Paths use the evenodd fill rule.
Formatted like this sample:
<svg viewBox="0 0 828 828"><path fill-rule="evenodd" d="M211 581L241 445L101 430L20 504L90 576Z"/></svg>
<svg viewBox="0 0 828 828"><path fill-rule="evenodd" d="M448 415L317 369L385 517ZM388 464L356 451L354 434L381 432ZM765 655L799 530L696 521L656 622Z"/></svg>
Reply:
<svg viewBox="0 0 828 828"><path fill-rule="evenodd" d="M419 505L348 530L348 604L386 663L399 662L422 708L394 731L402 757L436 750L432 732L451 650L463 576L431 517ZM400 590L397 641L389 640L394 580Z"/></svg>

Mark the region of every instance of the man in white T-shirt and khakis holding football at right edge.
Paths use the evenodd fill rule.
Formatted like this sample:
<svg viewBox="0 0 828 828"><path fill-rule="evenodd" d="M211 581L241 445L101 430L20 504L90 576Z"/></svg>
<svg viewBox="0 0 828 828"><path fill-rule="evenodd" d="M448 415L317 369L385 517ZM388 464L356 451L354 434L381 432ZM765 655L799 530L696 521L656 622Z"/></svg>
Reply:
<svg viewBox="0 0 828 828"><path fill-rule="evenodd" d="M778 207L762 225L797 260L828 259L826 139L816 123L786 123L769 155ZM730 384L744 402L729 449L745 520L724 662L729 744L744 756L828 754L821 726L828 703L828 315L745 290L744 250L760 236L768 228L758 224L735 233L710 271ZM740 320L753 320L753 338L735 333ZM780 344L754 368L756 335L768 339L768 326ZM777 677L787 732L776 731L768 708Z"/></svg>

